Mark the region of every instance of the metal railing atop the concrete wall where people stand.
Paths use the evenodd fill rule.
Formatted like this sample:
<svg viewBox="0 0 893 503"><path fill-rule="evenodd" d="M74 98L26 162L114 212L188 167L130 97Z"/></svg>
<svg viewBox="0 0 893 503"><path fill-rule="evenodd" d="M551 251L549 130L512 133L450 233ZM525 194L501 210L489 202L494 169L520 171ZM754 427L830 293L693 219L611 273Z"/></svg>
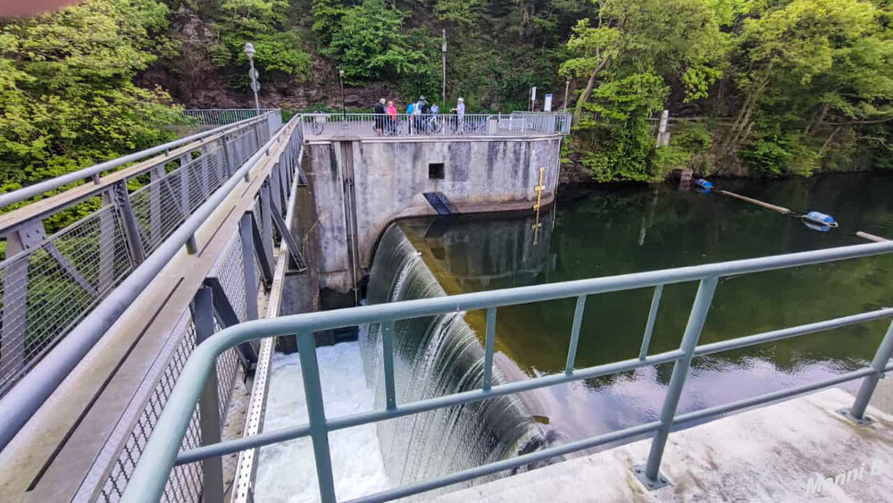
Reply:
<svg viewBox="0 0 893 503"><path fill-rule="evenodd" d="M570 113L305 113L306 138L569 134Z"/></svg>

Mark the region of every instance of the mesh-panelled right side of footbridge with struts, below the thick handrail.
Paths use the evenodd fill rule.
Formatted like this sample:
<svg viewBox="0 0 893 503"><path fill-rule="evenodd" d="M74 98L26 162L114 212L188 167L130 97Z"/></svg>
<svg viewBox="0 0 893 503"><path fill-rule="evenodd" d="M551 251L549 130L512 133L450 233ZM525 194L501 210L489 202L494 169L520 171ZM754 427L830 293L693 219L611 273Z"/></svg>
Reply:
<svg viewBox="0 0 893 503"><path fill-rule="evenodd" d="M96 473L96 479L101 483L98 488L85 490L83 495L86 499L108 503L121 499L135 463L145 449L146 440L196 344L234 323L258 318L258 295L271 291L275 282L271 275L271 250L276 246L273 229L278 231L281 239L275 273L284 275L289 258L296 262L298 271L305 268L295 241L282 220L285 218L290 222L293 211L287 211L286 207L294 203L300 172L303 138L296 125L293 122L279 136L272 138L262 152L253 156L236 173L235 178L238 179L243 172L251 170L253 164L262 161L272 164L265 182L256 185L255 194L249 193L252 202L242 215L238 229L232 231L227 245L214 261L205 286L196 291L191 306L166 307L165 315L179 316L181 320L167 345L170 349L159 356L161 365L154 365L154 373L146 375L144 385L131 400L129 411L124 414L127 419L117 423L116 430L120 432L113 434L112 438L123 441L110 442L103 456L95 463L91 472ZM263 159L260 156L263 152L269 152L273 157ZM225 237L225 234L221 237ZM271 303L276 302L271 298ZM230 348L217 358L211 372L211 379L216 385L204 389L201 403L191 415L183 448L198 447L203 441L221 438L223 425L228 421L226 411L238 366L246 364L243 353L237 349ZM255 380L258 378L255 374ZM205 500L220 500L223 490L220 464L182 466L171 474L163 499L198 503L204 495Z"/></svg>

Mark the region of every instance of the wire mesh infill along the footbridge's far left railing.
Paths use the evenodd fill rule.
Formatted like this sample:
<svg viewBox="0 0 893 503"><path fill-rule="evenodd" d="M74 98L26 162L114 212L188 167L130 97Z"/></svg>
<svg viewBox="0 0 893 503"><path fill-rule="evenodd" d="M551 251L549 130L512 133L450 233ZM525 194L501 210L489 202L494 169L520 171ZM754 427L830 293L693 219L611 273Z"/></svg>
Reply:
<svg viewBox="0 0 893 503"><path fill-rule="evenodd" d="M184 164L171 172L166 166L174 159L156 166L154 175L138 177L151 180L128 196L146 254L255 153L258 142L269 138L267 130L268 122L238 129L227 141L233 166L223 148L211 147L192 160L181 156ZM106 205L0 262L0 395L134 269L122 211L117 204ZM34 238L42 232L39 220L25 227L30 239L39 240Z"/></svg>

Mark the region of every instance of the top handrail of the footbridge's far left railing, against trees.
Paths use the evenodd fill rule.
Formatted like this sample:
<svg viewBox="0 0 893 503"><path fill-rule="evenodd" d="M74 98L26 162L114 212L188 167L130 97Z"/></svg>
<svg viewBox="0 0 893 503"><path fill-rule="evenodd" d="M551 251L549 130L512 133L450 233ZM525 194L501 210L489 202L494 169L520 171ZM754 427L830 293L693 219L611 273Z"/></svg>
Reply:
<svg viewBox="0 0 893 503"><path fill-rule="evenodd" d="M149 155L160 154L165 150L170 150L171 148L179 147L181 145L185 145L193 141L215 135L221 132L221 130L227 130L234 126L241 126L251 122L260 122L262 120L265 120L265 117L266 115L264 114L244 119L242 121L233 122L219 128L214 128L213 130L207 130L201 133L190 135L185 138L179 138L162 145L157 145L155 147L146 148L145 150L140 150L139 152L135 152L133 154L123 155L121 157L112 159L111 161L94 164L76 172L65 173L50 180L38 181L38 183L29 185L28 187L22 187L21 189L13 190L8 194L0 195L0 208L8 205L14 205L15 203L30 199L31 197L39 196L40 194L49 192L50 190L59 189L60 187L63 187L64 185L68 185L69 183L75 181L86 180L99 173L107 172L124 164L138 161Z"/></svg>

